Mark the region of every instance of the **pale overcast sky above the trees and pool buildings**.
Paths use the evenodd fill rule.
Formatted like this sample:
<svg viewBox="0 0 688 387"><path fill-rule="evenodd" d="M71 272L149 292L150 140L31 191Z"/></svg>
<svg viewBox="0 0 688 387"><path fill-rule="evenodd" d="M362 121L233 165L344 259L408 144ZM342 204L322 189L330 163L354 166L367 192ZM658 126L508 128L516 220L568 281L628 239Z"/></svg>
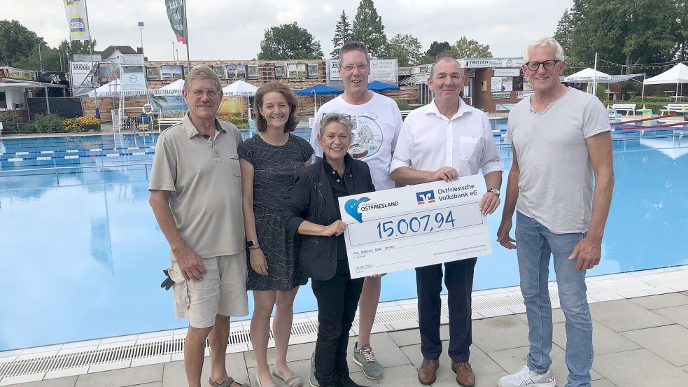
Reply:
<svg viewBox="0 0 688 387"><path fill-rule="evenodd" d="M332 51L342 9L353 23L358 0L188 0L190 56L202 59L253 59L265 29L297 22ZM533 38L551 36L573 0L374 0L387 38L412 34L423 51L433 41L453 44L461 36L489 44L495 57L520 57ZM12 1L0 19L18 20L48 45L57 47L69 28L60 0ZM144 22L143 48L150 60L171 60L174 34L164 0L88 0L91 36L97 50L108 45L141 45L137 22ZM181 59L186 48L175 44Z"/></svg>

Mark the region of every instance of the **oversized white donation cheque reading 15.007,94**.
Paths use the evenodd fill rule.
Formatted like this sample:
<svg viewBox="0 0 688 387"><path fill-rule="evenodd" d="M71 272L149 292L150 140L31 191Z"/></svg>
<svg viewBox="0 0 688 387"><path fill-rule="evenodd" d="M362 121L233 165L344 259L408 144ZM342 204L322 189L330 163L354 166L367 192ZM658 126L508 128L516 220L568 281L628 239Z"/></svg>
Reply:
<svg viewBox="0 0 688 387"><path fill-rule="evenodd" d="M492 252L478 175L339 198L351 278Z"/></svg>

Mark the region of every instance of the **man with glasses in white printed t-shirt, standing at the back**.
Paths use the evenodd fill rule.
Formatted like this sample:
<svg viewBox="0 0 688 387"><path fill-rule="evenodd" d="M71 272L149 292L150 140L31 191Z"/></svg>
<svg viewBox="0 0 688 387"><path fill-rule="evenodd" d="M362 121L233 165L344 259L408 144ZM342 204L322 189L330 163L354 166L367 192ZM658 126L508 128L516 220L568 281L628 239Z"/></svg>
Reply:
<svg viewBox="0 0 688 387"><path fill-rule="evenodd" d="M402 125L401 113L393 99L367 89L370 56L363 43L342 45L339 76L344 80L344 94L323 104L315 116L311 132L314 155L316 159L323 157L323 148L317 141L323 115L349 115L356 122L349 154L368 164L376 190L394 188L394 182L389 178L389 164ZM366 277L358 303L360 328L358 342L353 348L353 361L363 368L363 374L369 379L384 376L370 348L370 331L380 298L380 283L379 275Z"/></svg>

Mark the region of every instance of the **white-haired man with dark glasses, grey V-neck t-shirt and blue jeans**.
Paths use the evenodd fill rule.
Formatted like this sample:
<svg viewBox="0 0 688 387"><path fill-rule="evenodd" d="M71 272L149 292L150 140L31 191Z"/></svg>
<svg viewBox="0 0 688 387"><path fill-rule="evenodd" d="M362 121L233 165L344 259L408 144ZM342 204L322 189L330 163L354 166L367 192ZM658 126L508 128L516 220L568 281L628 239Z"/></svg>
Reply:
<svg viewBox="0 0 688 387"><path fill-rule="evenodd" d="M531 346L528 364L499 379L498 386L556 384L549 370L552 304L547 287L553 256L566 316L566 386L589 387L593 348L585 271L600 262L612 199L609 119L596 97L561 84L566 64L554 39L531 42L524 62L534 93L509 114L506 139L513 144L514 160L497 240L517 251ZM509 236L514 210L516 240Z"/></svg>

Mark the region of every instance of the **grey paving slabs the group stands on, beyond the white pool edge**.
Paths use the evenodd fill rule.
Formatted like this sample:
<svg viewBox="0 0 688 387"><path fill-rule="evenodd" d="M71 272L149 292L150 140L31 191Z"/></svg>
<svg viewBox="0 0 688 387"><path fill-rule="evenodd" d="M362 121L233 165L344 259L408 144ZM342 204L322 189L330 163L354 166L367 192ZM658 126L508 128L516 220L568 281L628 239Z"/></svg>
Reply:
<svg viewBox="0 0 688 387"><path fill-rule="evenodd" d="M626 300L591 304L594 319L594 387L682 387L688 386L688 292L651 295ZM473 321L471 365L477 376L476 386L496 386L499 377L519 370L526 363L528 327L524 314L483 318ZM442 325L442 339L449 339L447 325ZM353 346L356 337L351 337ZM372 348L385 366L385 377L366 379L360 367L351 361L352 377L367 386L421 386L416 370L421 363L418 329L377 333ZM447 348L447 342L444 343ZM554 311L554 348L552 370L557 386L566 384L564 364L563 314ZM290 346L291 369L308 386L310 356L314 343ZM269 349L268 358L274 356ZM433 386L458 386L449 369L446 353L440 360L437 382ZM209 358L204 365L203 381L209 377ZM235 379L255 386L255 358L251 351L227 355L227 368ZM4 383L3 383L4 384ZM91 387L91 386L186 386L182 361L94 372L15 386ZM277 386L285 384L277 381Z"/></svg>

